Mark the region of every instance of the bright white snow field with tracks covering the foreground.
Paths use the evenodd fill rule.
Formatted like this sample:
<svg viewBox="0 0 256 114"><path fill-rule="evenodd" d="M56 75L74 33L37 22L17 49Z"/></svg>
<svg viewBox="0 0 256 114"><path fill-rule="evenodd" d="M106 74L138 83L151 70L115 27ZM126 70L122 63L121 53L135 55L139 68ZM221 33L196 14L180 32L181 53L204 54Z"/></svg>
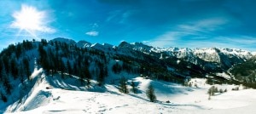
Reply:
<svg viewBox="0 0 256 114"><path fill-rule="evenodd" d="M37 71L40 74L40 71ZM34 72L36 73L36 71ZM231 91L236 85L215 85L228 89L227 93L216 94L208 100L205 79L194 78L192 87L174 83L152 81L143 77L133 78L138 85L138 94L121 94L115 85L106 84L105 91L100 88L75 86L72 79L62 81L58 77L47 80L38 76L32 94L21 105L16 102L6 111L15 113L174 113L174 114L241 114L256 112L256 90L242 89ZM152 84L157 102L148 101L145 91ZM195 88L195 83L199 88ZM47 89L46 87L52 87ZM77 87L77 88L75 88ZM131 88L131 87L130 87ZM92 92L96 91L96 92ZM170 103L166 103L169 100Z"/></svg>

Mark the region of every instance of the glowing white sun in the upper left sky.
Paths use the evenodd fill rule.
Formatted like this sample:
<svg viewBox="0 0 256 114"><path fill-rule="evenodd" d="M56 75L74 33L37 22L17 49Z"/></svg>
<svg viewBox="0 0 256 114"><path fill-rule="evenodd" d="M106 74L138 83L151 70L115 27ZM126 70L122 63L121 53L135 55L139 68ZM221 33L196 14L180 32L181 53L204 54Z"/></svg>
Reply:
<svg viewBox="0 0 256 114"><path fill-rule="evenodd" d="M15 21L12 27L20 29L20 31L27 31L32 37L36 37L37 31L54 32L53 29L46 26L46 13L38 11L38 9L22 5L20 11L13 14Z"/></svg>

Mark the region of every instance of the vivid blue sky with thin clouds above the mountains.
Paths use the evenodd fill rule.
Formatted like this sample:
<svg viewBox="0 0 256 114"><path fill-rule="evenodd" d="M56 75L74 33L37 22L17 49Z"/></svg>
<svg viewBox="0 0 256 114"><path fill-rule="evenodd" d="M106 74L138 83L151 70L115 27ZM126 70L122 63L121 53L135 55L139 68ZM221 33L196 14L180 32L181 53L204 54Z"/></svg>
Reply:
<svg viewBox="0 0 256 114"><path fill-rule="evenodd" d="M1 0L0 48L23 39L67 37L256 51L255 5L254 0ZM20 25L26 9L39 15L37 26Z"/></svg>

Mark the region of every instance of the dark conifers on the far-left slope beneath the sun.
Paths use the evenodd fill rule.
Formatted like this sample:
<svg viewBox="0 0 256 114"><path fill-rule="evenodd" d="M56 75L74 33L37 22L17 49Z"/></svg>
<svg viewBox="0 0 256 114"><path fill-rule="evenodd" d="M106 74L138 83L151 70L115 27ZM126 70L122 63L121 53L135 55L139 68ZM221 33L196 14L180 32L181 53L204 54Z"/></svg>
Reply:
<svg viewBox="0 0 256 114"><path fill-rule="evenodd" d="M15 88L14 80L23 84L25 80L30 80L32 66L30 66L30 58L27 50L36 48L33 42L23 41L23 43L10 44L8 48L4 48L0 54L0 99L3 102L8 101L8 97ZM22 56L22 57L21 57Z"/></svg>

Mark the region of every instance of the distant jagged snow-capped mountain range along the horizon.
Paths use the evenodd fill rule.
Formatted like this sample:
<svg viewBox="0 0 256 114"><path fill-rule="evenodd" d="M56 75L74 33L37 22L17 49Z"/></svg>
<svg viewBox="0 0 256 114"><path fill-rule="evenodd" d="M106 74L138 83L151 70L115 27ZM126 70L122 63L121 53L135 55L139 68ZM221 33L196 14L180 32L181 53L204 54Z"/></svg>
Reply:
<svg viewBox="0 0 256 114"><path fill-rule="evenodd" d="M62 39L60 40L62 42ZM73 41L71 41L73 43ZM81 42L84 45L81 46ZM129 54L134 53L133 50L142 52L161 59L175 57L180 60L191 62L197 66L201 66L205 70L215 70L219 72L227 71L231 66L249 60L253 54L249 51L236 48L155 48L143 43L127 43L121 42L118 46L108 43L91 44L86 41L77 43L80 48L96 48L103 52ZM136 57L136 55L134 55Z"/></svg>

